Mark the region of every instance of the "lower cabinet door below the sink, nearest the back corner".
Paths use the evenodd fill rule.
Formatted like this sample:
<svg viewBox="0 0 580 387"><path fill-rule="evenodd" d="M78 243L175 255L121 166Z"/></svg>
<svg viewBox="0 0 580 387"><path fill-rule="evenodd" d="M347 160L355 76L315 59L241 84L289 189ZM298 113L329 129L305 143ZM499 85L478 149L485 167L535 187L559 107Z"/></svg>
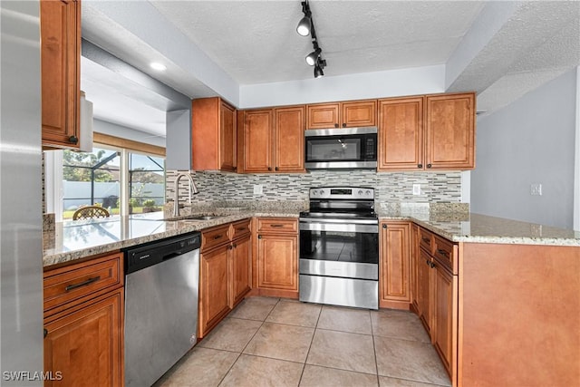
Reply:
<svg viewBox="0 0 580 387"><path fill-rule="evenodd" d="M250 249L250 236L244 237L232 243L232 302L233 308L244 299L244 295L251 290L252 284L252 255Z"/></svg>

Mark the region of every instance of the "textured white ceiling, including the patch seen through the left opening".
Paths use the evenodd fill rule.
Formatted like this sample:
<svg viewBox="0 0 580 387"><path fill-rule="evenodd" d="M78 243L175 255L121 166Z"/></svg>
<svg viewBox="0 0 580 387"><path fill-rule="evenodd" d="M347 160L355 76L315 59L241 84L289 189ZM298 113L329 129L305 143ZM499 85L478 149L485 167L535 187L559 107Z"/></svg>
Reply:
<svg viewBox="0 0 580 387"><path fill-rule="evenodd" d="M454 72L448 73L448 91L477 91L478 110L488 113L580 65L580 1L314 0L310 5L326 76L444 64ZM199 98L232 85L312 79L313 68L304 63L312 51L310 38L295 34L300 17L298 0L84 0L82 36ZM458 53L464 57L458 60ZM168 71L154 73L151 61L167 63ZM162 135L159 103L147 93L135 98L135 85L124 85L118 74L113 84L107 82L104 67L82 67L83 85L103 86L92 93L95 116L98 112L107 121L110 114L110 121ZM114 109L114 92L123 109ZM148 127L145 121L156 124Z"/></svg>

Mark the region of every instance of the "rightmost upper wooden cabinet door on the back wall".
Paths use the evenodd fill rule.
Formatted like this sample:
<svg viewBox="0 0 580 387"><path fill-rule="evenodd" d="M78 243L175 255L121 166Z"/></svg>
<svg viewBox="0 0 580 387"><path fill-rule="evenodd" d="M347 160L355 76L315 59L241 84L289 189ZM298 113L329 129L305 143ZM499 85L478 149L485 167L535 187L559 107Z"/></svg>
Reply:
<svg viewBox="0 0 580 387"><path fill-rule="evenodd" d="M427 96L428 169L475 168L475 94Z"/></svg>

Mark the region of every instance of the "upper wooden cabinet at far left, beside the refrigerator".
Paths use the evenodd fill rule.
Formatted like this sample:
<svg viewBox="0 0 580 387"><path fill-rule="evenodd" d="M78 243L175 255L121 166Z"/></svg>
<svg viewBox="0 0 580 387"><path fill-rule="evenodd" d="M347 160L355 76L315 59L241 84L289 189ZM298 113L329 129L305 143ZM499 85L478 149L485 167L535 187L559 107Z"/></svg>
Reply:
<svg viewBox="0 0 580 387"><path fill-rule="evenodd" d="M43 146L79 148L81 1L42 0Z"/></svg>

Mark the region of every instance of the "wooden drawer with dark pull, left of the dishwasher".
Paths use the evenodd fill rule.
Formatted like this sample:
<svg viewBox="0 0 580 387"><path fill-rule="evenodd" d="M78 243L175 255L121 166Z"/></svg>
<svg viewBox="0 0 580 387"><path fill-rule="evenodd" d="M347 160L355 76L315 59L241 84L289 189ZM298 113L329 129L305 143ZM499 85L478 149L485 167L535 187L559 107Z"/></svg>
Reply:
<svg viewBox="0 0 580 387"><path fill-rule="evenodd" d="M44 311L91 297L123 285L122 254L102 256L80 264L49 270L43 275ZM54 310L54 312L57 312Z"/></svg>

